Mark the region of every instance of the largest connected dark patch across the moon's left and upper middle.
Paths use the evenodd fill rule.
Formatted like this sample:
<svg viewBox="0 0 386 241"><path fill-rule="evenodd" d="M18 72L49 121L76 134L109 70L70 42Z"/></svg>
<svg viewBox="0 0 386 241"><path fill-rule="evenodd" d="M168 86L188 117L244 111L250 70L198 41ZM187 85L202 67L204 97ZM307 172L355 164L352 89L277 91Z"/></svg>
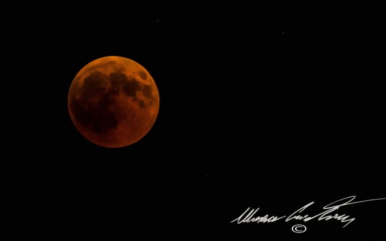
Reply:
<svg viewBox="0 0 386 241"><path fill-rule="evenodd" d="M146 98L151 99L151 87L140 83L134 77L127 77L122 72L113 72L109 76L101 72L91 72L84 78L78 92L79 97L70 96L69 107L80 125L94 134L103 136L118 126L120 117L111 109L117 105L116 98L120 90L133 97L132 100L141 108L146 104L136 97L138 91L142 91Z"/></svg>

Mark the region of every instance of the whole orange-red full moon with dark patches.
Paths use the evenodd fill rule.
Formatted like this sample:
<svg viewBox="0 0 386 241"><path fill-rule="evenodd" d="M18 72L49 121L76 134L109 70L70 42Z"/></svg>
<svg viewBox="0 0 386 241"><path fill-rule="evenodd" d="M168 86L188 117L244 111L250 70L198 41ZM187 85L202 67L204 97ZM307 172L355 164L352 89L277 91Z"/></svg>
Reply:
<svg viewBox="0 0 386 241"><path fill-rule="evenodd" d="M118 56L96 59L75 76L68 110L75 128L107 148L131 145L152 128L159 93L154 79L137 62Z"/></svg>

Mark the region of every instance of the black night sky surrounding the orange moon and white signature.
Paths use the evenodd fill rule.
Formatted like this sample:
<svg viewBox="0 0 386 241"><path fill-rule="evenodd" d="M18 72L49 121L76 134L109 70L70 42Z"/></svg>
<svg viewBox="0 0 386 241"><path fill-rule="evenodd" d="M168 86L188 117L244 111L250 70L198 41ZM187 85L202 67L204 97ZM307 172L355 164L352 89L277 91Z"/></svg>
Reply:
<svg viewBox="0 0 386 241"><path fill-rule="evenodd" d="M356 218L343 229L336 220L303 223L302 234L291 231L296 221L230 223L247 207L282 216L315 201L308 213L317 214L351 195L386 197L383 65L367 10L8 9L13 231L379 240L383 201L336 211ZM67 109L77 72L110 55L143 65L160 93L153 129L120 149L89 143Z"/></svg>

